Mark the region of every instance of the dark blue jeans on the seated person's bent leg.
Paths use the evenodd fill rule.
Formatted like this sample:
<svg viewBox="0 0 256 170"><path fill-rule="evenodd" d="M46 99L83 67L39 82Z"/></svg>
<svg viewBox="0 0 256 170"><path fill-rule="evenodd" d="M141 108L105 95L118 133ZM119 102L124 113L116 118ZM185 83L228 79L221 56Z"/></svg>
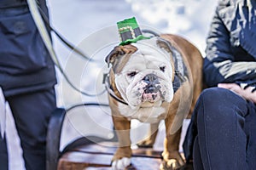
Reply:
<svg viewBox="0 0 256 170"><path fill-rule="evenodd" d="M202 92L193 115L195 170L256 169L256 106L224 88ZM189 127L190 128L190 127Z"/></svg>

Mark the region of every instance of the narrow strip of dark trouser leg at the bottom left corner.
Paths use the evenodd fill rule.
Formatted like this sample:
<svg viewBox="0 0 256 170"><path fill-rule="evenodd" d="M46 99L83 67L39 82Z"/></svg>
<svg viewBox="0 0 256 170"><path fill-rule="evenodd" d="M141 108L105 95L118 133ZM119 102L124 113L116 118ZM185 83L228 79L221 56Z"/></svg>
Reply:
<svg viewBox="0 0 256 170"><path fill-rule="evenodd" d="M0 169L8 170L8 151L6 138L3 136L3 139L0 135Z"/></svg>

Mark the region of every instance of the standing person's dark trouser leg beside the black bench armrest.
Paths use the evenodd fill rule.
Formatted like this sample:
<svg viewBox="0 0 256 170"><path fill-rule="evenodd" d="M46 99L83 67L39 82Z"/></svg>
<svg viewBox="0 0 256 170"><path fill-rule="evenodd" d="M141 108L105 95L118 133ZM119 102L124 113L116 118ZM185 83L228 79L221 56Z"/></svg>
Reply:
<svg viewBox="0 0 256 170"><path fill-rule="evenodd" d="M54 89L7 98L20 136L26 170L45 170L46 133L55 110Z"/></svg>

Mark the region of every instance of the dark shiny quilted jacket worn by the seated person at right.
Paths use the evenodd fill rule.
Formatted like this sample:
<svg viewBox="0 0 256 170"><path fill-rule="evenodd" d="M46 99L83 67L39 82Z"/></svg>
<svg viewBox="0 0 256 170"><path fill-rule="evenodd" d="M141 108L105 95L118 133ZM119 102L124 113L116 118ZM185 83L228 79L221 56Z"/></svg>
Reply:
<svg viewBox="0 0 256 170"><path fill-rule="evenodd" d="M256 0L220 1L207 37L205 81L256 82Z"/></svg>

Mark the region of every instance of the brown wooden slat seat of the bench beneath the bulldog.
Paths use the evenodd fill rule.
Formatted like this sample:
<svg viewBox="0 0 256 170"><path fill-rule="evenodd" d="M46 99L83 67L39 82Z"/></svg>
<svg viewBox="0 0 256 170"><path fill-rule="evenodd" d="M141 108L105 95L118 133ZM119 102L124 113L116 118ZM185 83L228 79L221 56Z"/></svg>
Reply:
<svg viewBox="0 0 256 170"><path fill-rule="evenodd" d="M108 145L108 146L107 146ZM61 156L58 170L111 169L116 147L109 144L89 144L75 148ZM127 169L159 169L160 151L152 149L132 150L131 166Z"/></svg>

